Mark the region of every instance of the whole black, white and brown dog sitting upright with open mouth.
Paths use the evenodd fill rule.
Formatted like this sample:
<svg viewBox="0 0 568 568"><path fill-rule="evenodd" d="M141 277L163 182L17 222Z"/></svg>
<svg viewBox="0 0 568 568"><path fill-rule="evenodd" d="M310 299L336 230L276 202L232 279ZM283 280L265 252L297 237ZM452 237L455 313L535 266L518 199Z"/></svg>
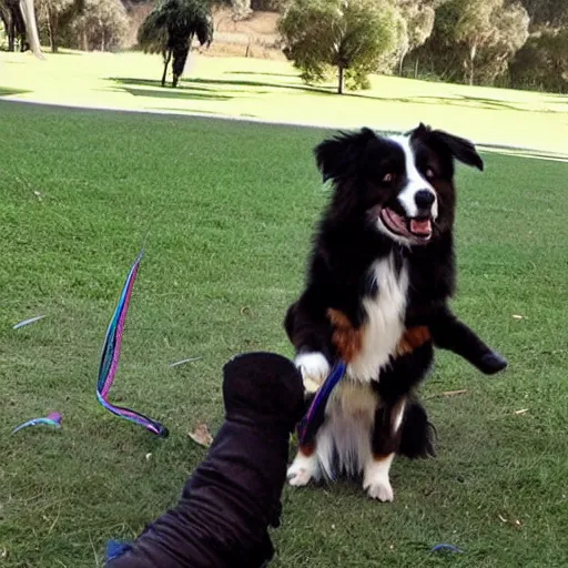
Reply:
<svg viewBox="0 0 568 568"><path fill-rule="evenodd" d="M285 328L308 392L337 359L347 372L288 479L303 486L322 473L363 474L368 495L390 501L394 456L434 454L415 394L434 346L486 374L507 365L447 305L455 281L454 161L478 170L484 163L469 141L424 124L400 136L368 129L342 134L315 154L334 193Z"/></svg>

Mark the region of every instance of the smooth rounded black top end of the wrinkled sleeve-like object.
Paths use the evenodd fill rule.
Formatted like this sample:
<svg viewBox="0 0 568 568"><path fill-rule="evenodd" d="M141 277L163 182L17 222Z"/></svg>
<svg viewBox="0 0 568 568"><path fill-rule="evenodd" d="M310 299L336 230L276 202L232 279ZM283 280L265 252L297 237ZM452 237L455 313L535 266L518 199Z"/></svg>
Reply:
<svg viewBox="0 0 568 568"><path fill-rule="evenodd" d="M292 432L304 410L304 387L295 365L274 353L245 353L223 367L229 418L274 420Z"/></svg>

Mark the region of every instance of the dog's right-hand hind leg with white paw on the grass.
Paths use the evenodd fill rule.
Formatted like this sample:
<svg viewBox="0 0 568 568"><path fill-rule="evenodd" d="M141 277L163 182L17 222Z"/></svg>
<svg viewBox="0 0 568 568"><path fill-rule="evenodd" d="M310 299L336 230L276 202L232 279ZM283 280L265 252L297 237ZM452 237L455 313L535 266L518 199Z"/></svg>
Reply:
<svg viewBox="0 0 568 568"><path fill-rule="evenodd" d="M400 426L406 408L406 398L394 404L383 403L375 413L375 425L371 438L372 455L365 464L363 488L373 499L392 501L390 465L400 444Z"/></svg>

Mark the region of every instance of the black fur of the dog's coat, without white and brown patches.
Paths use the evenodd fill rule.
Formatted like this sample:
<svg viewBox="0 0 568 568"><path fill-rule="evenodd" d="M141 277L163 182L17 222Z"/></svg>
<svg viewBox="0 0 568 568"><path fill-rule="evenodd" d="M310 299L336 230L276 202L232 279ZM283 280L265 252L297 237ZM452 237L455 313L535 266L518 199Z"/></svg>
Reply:
<svg viewBox="0 0 568 568"><path fill-rule="evenodd" d="M388 365L377 368L374 377L364 377L373 379L379 399L372 433L373 454L379 456L434 454L427 415L415 395L433 362L434 346L459 354L486 374L507 365L448 307L455 288L454 160L479 170L483 160L470 142L423 124L408 135L416 168L425 179L428 174L437 194L439 210L432 222L432 237L404 245L369 221L382 207L400 213L396 197L406 173L396 144L368 129L324 141L315 155L324 181L333 182L334 193L314 239L305 290L288 308L284 323L297 354L322 353L333 365L345 357L329 310L343 314L354 334L359 332L368 316L364 300L381 293L369 278L373 263L393 255L396 270L400 271L403 263L407 266L404 325L407 331L426 327L428 337L405 353L393 353ZM394 436L392 410L403 397L405 418L400 434ZM310 452L314 444L315 439L306 442Z"/></svg>

